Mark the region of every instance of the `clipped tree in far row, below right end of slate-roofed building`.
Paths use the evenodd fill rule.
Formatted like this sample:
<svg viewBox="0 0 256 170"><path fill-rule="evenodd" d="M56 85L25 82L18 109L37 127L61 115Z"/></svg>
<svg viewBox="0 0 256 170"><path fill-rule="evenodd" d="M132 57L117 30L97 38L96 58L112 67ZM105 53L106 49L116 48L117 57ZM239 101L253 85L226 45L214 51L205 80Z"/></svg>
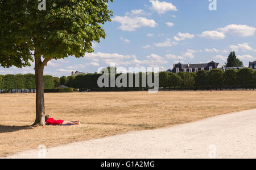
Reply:
<svg viewBox="0 0 256 170"><path fill-rule="evenodd" d="M223 74L224 71L222 69L212 69L208 76L209 85L216 89L217 87L221 88L224 85Z"/></svg>

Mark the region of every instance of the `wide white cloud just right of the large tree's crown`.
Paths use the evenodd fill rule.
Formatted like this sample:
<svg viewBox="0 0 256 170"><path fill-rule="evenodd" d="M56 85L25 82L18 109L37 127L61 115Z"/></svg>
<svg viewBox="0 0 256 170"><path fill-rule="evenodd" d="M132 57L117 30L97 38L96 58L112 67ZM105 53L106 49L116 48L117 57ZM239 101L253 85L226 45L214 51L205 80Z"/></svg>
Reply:
<svg viewBox="0 0 256 170"><path fill-rule="evenodd" d="M121 23L118 27L123 31L135 31L137 28L141 27L156 27L158 24L153 19L147 19L144 17L130 18L129 16L115 16L113 22Z"/></svg>

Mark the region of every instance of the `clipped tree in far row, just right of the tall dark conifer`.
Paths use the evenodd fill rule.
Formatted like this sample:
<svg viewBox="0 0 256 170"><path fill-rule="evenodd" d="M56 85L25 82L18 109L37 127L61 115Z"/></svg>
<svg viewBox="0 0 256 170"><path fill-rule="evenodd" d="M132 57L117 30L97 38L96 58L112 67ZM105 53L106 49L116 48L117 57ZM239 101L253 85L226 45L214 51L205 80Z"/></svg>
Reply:
<svg viewBox="0 0 256 170"><path fill-rule="evenodd" d="M238 83L246 89L253 83L253 69L243 68L237 74Z"/></svg>

